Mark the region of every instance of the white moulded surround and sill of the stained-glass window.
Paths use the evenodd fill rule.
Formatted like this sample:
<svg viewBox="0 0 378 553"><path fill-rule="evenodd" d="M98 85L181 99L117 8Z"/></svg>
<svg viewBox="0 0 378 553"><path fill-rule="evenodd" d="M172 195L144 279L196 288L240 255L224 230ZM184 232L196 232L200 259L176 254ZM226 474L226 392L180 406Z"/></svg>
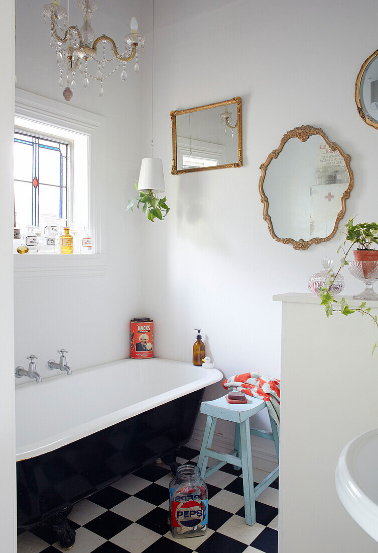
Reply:
<svg viewBox="0 0 378 553"><path fill-rule="evenodd" d="M88 137L88 223L92 232L94 248L94 253L91 255L15 254L15 278L103 276L106 270L104 232L106 202L105 187L102 186L104 182L104 137L102 132L104 117L20 88L15 89L14 116ZM30 129L25 130L28 133L31 132ZM64 140L66 142L67 139L64 138Z"/></svg>

